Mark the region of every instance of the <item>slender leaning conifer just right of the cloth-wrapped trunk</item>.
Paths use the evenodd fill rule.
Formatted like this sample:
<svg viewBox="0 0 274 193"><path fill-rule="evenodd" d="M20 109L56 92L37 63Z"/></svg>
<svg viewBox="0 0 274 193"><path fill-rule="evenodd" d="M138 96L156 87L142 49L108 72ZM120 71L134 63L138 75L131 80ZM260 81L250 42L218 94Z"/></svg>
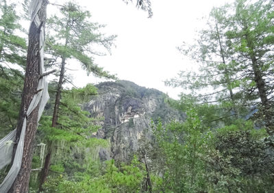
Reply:
<svg viewBox="0 0 274 193"><path fill-rule="evenodd" d="M55 105L53 109L53 118L51 126L58 128L60 100L62 93L62 85L64 84L66 77L66 63L69 59L76 59L81 63L82 68L95 76L105 78L115 78L108 72L103 71L98 65L94 63L92 55L101 55L102 53L97 52L92 48L94 44L101 45L107 50L110 50L115 35L105 37L99 33L98 30L103 27L97 23L90 23L90 12L81 10L79 5L69 2L60 8L62 17L53 16L49 19L49 28L55 29L54 35L50 35L48 38L47 45L51 50L51 55L56 57L56 60L60 59L60 74L55 95ZM51 32L49 31L49 34ZM45 166L42 168L40 188L42 190L42 183L45 182L50 166L51 160L51 149L52 145L49 144L47 155L45 158Z"/></svg>

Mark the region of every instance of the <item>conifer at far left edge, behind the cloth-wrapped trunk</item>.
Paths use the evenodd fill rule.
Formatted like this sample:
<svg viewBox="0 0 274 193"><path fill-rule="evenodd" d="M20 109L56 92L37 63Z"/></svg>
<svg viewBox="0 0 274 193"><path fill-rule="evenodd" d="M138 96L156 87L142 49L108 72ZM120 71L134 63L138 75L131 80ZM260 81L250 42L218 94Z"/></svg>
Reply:
<svg viewBox="0 0 274 193"><path fill-rule="evenodd" d="M15 34L16 30L21 31L15 8L16 5L8 4L5 0L1 1L0 125L3 134L16 127L24 77L22 72L14 67L17 65L25 68L27 54L25 39Z"/></svg>

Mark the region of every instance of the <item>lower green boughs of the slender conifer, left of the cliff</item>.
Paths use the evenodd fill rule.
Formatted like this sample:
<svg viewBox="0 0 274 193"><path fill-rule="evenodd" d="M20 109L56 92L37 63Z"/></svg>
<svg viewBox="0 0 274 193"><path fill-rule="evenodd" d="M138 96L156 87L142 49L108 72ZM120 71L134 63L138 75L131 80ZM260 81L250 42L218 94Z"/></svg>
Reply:
<svg viewBox="0 0 274 193"><path fill-rule="evenodd" d="M41 126L38 128L41 131L40 136L48 143L50 141L76 143L78 140L86 140L87 136L92 132L96 132L99 127L94 125L96 119L88 117L90 113L82 110L80 102L87 101L91 95L96 93L97 91L92 85L65 90L60 102L60 115L58 117L58 127L61 129L51 127L51 116L42 116ZM52 105L51 102L49 103L49 105Z"/></svg>

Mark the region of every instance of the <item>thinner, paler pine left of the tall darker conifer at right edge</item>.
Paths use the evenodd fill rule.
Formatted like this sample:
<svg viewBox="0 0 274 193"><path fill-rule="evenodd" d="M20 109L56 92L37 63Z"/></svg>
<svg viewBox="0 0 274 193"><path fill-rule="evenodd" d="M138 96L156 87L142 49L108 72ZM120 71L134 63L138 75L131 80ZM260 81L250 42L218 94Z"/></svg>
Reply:
<svg viewBox="0 0 274 193"><path fill-rule="evenodd" d="M244 110L239 108L240 100L245 104L237 90L237 64L225 35L229 29L228 10L229 5L213 8L207 27L198 33L197 43L185 43L178 47L185 57L197 61L199 72L182 71L179 78L166 81L166 85L191 91L191 95L182 94L181 106L186 106L188 102L190 105L197 104L198 114L203 116L209 125L213 122L218 125L219 121L231 123L239 117L239 111Z"/></svg>

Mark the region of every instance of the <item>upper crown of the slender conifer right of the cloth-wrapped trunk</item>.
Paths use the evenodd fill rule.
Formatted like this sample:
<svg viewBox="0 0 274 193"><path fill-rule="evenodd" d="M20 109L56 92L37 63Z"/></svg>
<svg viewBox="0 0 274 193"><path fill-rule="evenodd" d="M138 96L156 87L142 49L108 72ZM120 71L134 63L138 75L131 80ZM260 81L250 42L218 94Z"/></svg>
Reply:
<svg viewBox="0 0 274 193"><path fill-rule="evenodd" d="M60 8L61 15L47 20L49 31L46 39L47 52L58 59L77 59L88 74L105 78L115 78L94 63L93 55L103 55L93 47L102 46L110 51L116 35L105 37L99 30L104 27L90 22L90 12L69 2ZM51 31L54 29L54 31Z"/></svg>

